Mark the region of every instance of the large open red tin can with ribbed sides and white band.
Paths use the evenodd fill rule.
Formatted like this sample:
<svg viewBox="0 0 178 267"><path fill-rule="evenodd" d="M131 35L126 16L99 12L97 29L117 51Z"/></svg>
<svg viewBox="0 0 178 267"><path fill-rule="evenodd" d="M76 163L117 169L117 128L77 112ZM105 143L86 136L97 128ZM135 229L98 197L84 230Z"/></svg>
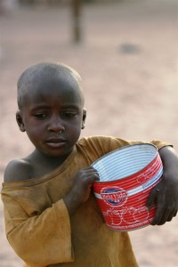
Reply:
<svg viewBox="0 0 178 267"><path fill-rule="evenodd" d="M148 226L156 206L148 210L146 201L163 174L157 147L150 143L125 146L92 166L100 175L100 181L93 182L93 191L108 227L133 231Z"/></svg>

